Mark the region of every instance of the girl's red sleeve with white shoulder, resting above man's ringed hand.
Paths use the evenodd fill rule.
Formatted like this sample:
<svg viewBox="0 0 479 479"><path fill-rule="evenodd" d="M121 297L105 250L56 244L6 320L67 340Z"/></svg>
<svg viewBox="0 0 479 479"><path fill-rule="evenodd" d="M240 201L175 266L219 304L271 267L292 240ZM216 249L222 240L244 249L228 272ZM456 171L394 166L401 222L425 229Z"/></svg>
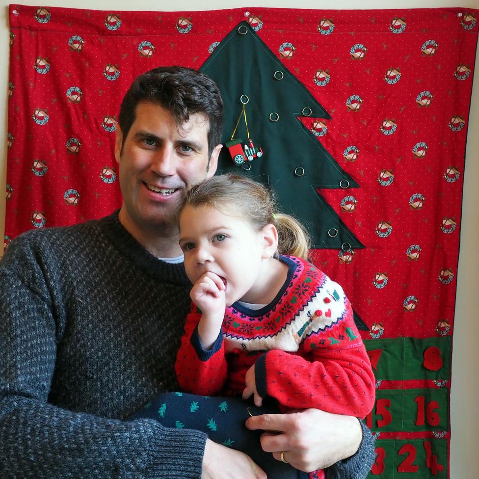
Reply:
<svg viewBox="0 0 479 479"><path fill-rule="evenodd" d="M256 361L256 387L288 408L364 418L373 407L374 375L349 301L331 285L335 294L319 298L321 310L311 312L298 353L272 349Z"/></svg>

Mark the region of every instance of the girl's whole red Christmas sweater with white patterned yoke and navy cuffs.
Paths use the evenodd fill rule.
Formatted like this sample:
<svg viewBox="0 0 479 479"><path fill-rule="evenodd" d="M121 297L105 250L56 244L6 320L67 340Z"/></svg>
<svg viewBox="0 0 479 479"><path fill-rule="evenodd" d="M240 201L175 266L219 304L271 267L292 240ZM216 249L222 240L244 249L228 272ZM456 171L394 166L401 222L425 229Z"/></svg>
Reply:
<svg viewBox="0 0 479 479"><path fill-rule="evenodd" d="M192 305L178 352L181 387L200 395L239 395L255 365L260 396L287 408L315 407L364 418L374 401L371 364L341 286L307 261L283 256L288 277L260 310L227 308L222 331L205 350Z"/></svg>

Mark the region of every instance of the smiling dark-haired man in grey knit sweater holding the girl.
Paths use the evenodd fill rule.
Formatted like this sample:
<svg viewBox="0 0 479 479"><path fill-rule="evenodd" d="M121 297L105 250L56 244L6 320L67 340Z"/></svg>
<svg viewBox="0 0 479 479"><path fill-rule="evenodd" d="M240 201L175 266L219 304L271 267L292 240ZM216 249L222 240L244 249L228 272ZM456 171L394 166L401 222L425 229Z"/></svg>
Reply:
<svg viewBox="0 0 479 479"><path fill-rule="evenodd" d="M266 478L202 432L125 421L177 390L190 284L175 212L216 170L221 97L203 74L155 69L133 82L119 125L119 212L27 232L0 263L0 477ZM356 453L355 418L307 410L247 426L284 431L265 433L261 445L303 470L353 456L331 467L331 478L363 477L373 460L369 431Z"/></svg>

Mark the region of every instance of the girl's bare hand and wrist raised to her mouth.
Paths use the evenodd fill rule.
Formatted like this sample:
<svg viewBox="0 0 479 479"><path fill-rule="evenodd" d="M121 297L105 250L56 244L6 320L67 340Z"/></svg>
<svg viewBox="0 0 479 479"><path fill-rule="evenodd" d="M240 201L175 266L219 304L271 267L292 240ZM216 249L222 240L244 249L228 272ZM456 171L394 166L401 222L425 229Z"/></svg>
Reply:
<svg viewBox="0 0 479 479"><path fill-rule="evenodd" d="M201 345L206 350L211 349L223 324L226 309L225 285L217 274L207 271L193 285L189 296L202 313L198 322Z"/></svg>

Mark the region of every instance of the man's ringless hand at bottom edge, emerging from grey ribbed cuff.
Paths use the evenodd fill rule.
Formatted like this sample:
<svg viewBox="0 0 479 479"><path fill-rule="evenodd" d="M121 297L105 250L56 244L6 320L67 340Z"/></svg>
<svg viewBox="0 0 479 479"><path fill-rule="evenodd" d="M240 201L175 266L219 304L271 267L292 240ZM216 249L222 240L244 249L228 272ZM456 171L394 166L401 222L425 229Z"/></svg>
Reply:
<svg viewBox="0 0 479 479"><path fill-rule="evenodd" d="M267 479L265 472L243 452L206 440L201 479Z"/></svg>

